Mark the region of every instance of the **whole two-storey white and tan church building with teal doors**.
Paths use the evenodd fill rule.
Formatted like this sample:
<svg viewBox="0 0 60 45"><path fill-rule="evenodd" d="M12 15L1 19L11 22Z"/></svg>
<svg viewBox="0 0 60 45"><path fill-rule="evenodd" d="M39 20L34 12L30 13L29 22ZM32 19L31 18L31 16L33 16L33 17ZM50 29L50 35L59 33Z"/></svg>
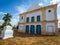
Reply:
<svg viewBox="0 0 60 45"><path fill-rule="evenodd" d="M18 31L32 35L58 34L57 4L45 7L33 4L19 15Z"/></svg>

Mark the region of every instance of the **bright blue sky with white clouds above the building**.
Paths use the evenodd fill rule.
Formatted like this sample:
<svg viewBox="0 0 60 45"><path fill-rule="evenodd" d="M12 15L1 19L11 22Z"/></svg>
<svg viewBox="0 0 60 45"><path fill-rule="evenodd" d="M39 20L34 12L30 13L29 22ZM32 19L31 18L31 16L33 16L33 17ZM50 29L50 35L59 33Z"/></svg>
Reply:
<svg viewBox="0 0 60 45"><path fill-rule="evenodd" d="M60 20L60 0L0 0L0 24L3 23L2 17L5 13L12 15L11 24L14 26L19 21L19 14L27 11L32 4L47 6L56 3L58 3L57 15Z"/></svg>

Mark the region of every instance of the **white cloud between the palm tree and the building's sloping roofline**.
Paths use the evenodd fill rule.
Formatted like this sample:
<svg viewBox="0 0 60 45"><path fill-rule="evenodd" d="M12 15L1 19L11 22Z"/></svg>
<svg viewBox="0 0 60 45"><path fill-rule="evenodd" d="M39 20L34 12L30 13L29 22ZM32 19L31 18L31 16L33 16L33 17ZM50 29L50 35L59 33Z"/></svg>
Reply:
<svg viewBox="0 0 60 45"><path fill-rule="evenodd" d="M20 5L20 6L15 6L15 10L18 12L18 13L15 13L14 15L13 15L13 18L11 19L11 24L13 25L13 26L17 26L17 24L18 24L18 21L19 21L19 14L20 13L23 13L23 12L26 12L27 11L27 9L28 9L28 7L29 7L29 5L27 6L27 5Z"/></svg>

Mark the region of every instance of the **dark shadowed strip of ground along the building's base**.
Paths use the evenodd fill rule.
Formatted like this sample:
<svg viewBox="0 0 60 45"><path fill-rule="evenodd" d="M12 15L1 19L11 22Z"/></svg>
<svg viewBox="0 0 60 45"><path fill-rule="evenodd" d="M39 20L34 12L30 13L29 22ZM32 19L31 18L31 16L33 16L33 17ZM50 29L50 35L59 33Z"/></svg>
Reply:
<svg viewBox="0 0 60 45"><path fill-rule="evenodd" d="M18 32L17 30L15 30L14 31L14 37L51 37L51 36L53 36L53 37L56 37L56 36L58 36L58 35L36 35L36 34L34 34L34 35L32 35L32 34L27 34L27 33L21 33L21 32Z"/></svg>

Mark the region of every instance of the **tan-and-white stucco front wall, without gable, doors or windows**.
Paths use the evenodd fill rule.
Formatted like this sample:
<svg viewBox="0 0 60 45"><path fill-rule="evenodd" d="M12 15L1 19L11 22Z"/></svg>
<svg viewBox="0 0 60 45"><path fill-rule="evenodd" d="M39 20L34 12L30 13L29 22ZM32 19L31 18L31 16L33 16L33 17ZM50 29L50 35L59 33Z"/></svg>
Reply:
<svg viewBox="0 0 60 45"><path fill-rule="evenodd" d="M48 10L51 10L51 12L48 12ZM57 10L57 5L53 5L53 6L47 6L47 7L41 8L39 10L38 9L34 10L34 11L32 10L31 12L26 12L26 13L21 14L21 16L24 16L24 17L23 17L23 19L20 19L20 24L23 24L23 26L20 25L22 27L22 28L20 27L21 29L19 29L20 32L25 31L26 25L29 25L29 26L35 25L35 27L36 27L36 25L41 25L41 29L42 29L41 32L43 35L48 34L49 32L52 32L52 31L50 31L51 29L48 26L52 26L53 32L57 32L58 30L57 30L57 22L56 22L56 20L57 20L56 10ZM39 16L39 15L41 16L41 22L37 22L37 16ZM20 16L20 18L21 18L21 16ZM29 23L26 22L27 17L29 17ZM35 17L35 22L31 23L31 17ZM45 21L45 20L47 20L47 21ZM47 28L49 29L49 32L48 32ZM36 31L36 29L35 29L35 31Z"/></svg>

